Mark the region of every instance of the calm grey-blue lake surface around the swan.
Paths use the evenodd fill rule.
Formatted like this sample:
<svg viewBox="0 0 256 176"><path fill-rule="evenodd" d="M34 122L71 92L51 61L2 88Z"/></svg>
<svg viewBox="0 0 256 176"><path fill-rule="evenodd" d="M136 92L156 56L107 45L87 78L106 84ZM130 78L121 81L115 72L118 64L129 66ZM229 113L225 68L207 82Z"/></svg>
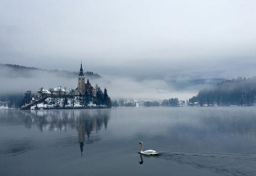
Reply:
<svg viewBox="0 0 256 176"><path fill-rule="evenodd" d="M255 176L256 107L0 110L0 175Z"/></svg>

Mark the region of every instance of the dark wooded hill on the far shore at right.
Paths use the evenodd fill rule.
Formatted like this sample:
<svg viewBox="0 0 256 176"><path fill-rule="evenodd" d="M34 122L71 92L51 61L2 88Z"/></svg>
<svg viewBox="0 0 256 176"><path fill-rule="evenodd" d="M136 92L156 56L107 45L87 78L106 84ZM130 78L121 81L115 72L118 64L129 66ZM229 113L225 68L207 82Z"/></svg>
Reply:
<svg viewBox="0 0 256 176"><path fill-rule="evenodd" d="M256 101L256 77L225 80L213 88L199 91L189 102L218 106L253 106Z"/></svg>

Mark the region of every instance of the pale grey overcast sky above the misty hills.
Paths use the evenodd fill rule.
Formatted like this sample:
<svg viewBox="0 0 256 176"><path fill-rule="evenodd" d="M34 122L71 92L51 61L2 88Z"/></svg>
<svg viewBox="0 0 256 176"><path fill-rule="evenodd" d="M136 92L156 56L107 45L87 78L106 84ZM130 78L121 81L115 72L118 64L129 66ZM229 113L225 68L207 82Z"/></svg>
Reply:
<svg viewBox="0 0 256 176"><path fill-rule="evenodd" d="M0 63L139 79L256 75L256 0L0 0Z"/></svg>

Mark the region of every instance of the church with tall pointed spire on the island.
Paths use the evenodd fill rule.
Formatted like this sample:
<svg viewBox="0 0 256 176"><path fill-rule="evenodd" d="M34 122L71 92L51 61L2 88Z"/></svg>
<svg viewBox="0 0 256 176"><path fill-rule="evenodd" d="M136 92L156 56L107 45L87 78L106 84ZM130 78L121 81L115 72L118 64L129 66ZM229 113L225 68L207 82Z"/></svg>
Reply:
<svg viewBox="0 0 256 176"><path fill-rule="evenodd" d="M87 83L85 84L85 75L84 75L83 67L81 63L80 73L78 75L78 84L77 84L77 88L75 89L75 94L83 95L85 94L86 91L90 93L92 96L94 97L96 96L96 90L95 88L93 88L93 86L89 82L89 79L87 79Z"/></svg>

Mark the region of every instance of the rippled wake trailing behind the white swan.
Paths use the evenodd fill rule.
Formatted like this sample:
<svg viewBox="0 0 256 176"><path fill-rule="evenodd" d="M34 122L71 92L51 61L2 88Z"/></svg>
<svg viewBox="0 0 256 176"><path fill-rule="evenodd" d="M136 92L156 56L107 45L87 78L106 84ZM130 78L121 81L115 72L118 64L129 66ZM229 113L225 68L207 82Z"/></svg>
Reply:
<svg viewBox="0 0 256 176"><path fill-rule="evenodd" d="M161 153L157 157L225 176L255 176L256 155Z"/></svg>

